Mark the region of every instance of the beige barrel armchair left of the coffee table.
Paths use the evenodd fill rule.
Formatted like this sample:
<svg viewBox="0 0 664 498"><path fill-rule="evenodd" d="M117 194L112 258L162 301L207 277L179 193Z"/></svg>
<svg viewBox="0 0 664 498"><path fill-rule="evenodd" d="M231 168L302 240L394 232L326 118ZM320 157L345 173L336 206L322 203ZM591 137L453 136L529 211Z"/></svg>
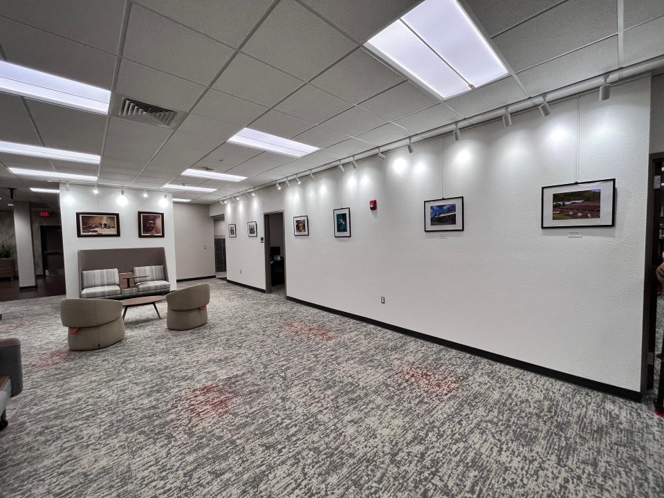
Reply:
<svg viewBox="0 0 664 498"><path fill-rule="evenodd" d="M100 349L124 339L120 301L62 299L60 318L69 327L67 342L73 351Z"/></svg>

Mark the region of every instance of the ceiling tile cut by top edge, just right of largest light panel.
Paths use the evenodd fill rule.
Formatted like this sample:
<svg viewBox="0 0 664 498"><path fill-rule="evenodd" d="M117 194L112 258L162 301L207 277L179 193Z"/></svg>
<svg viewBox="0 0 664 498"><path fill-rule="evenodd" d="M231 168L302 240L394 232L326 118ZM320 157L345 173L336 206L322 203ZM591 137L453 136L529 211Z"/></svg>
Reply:
<svg viewBox="0 0 664 498"><path fill-rule="evenodd" d="M562 0L462 0L463 8L474 14L486 33L492 37L512 26L535 17Z"/></svg>

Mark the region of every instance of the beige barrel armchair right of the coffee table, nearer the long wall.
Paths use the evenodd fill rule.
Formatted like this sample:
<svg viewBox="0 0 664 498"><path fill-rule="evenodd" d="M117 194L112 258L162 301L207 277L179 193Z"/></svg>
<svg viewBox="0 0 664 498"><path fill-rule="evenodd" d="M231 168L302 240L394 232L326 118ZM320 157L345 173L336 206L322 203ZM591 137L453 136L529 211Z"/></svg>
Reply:
<svg viewBox="0 0 664 498"><path fill-rule="evenodd" d="M183 288L166 295L166 326L171 330L196 329L208 323L210 284Z"/></svg>

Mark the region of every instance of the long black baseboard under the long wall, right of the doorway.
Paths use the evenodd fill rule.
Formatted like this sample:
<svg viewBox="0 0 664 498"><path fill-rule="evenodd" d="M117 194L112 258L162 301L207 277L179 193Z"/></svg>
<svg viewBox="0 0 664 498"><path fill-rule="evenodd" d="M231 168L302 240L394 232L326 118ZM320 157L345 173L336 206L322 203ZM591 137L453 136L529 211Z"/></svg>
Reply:
<svg viewBox="0 0 664 498"><path fill-rule="evenodd" d="M625 389L624 387L617 387L614 385L605 384L604 382L598 382L597 380L590 380L584 377L579 377L572 374L566 374L562 371L546 367L540 367L540 365L524 362L522 360L515 360L514 358L510 358L508 356L502 356L497 353L491 353L490 351L484 351L483 349L477 349L471 346L466 346L465 344L459 344L459 342L453 342L447 339L434 337L433 335L427 335L425 333L404 329L403 327L397 325L392 325L385 322L379 322L378 320L374 320L373 318L367 318L360 315L355 315L353 313L347 313L346 311L339 311L334 308L328 308L327 306L322 306L322 304L315 304L312 302L304 301L303 299L297 299L297 297L286 297L286 299L288 299L289 301L297 302L299 304L304 304L305 306L311 306L312 308L317 308L322 311L334 313L335 315L341 315L343 317L352 318L353 320L358 320L359 322L365 322L367 324L377 325L382 327L383 329L388 329L394 332L410 335L411 337L422 339L428 342L433 342L434 344L440 344L441 346L449 347L451 349L457 349L457 351L463 351L463 353L470 353L474 356L481 356L482 358L486 358L487 360L492 360L495 362L503 363L504 365L509 365L510 367L515 367L518 369L533 372L533 374L540 374L542 376L555 378L556 380L569 382L569 384L579 385L581 387L587 387L589 389L594 389L595 391L611 394L611 396L618 396L619 398L625 398L631 401L636 401L638 403L640 403L641 401L641 393L639 391L632 391L631 389Z"/></svg>

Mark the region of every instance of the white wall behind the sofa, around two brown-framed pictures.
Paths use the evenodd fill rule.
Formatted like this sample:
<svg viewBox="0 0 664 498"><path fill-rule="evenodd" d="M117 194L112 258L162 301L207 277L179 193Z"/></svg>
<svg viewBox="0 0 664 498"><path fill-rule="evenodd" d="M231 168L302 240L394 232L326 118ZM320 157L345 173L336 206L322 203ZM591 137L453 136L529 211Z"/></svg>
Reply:
<svg viewBox="0 0 664 498"><path fill-rule="evenodd" d="M125 190L126 205L118 203L120 189L99 187L99 194L89 185L71 185L67 192L60 184L60 216L62 219L62 244L67 297L78 297L78 250L163 247L171 290L176 288L175 230L171 194L164 201L163 194L152 193L145 199L141 190ZM138 237L138 211L164 213L163 238ZM76 212L116 212L120 214L120 237L77 237Z"/></svg>

